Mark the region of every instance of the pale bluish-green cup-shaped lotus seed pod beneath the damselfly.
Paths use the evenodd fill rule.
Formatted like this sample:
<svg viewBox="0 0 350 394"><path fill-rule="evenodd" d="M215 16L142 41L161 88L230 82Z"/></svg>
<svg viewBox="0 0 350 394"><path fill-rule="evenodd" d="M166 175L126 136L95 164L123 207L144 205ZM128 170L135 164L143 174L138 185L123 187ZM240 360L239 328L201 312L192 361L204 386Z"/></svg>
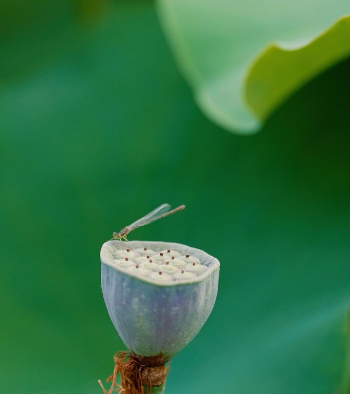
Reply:
<svg viewBox="0 0 350 394"><path fill-rule="evenodd" d="M104 301L121 339L141 363L164 365L207 321L220 263L168 242L108 241L100 256Z"/></svg>

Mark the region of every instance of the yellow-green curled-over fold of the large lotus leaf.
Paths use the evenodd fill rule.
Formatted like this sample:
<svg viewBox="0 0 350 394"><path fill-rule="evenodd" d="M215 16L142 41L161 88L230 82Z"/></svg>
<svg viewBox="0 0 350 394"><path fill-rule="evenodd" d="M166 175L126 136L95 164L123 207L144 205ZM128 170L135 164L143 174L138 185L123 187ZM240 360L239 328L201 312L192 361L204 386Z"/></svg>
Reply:
<svg viewBox="0 0 350 394"><path fill-rule="evenodd" d="M349 55L350 15L339 18L307 45L283 48L271 43L248 71L245 100L264 122L294 91Z"/></svg>

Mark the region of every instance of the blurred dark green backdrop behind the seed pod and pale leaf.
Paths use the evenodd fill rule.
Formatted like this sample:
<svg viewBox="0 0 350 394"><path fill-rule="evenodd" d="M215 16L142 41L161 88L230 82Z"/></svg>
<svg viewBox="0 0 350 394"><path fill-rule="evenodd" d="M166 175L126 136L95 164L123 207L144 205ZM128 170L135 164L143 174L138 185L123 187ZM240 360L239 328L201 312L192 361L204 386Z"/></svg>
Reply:
<svg viewBox="0 0 350 394"><path fill-rule="evenodd" d="M187 208L129 238L222 266L166 392L350 392L350 62L243 137L198 110L151 2L3 0L0 14L0 391L102 392L124 345L101 244L168 202Z"/></svg>

